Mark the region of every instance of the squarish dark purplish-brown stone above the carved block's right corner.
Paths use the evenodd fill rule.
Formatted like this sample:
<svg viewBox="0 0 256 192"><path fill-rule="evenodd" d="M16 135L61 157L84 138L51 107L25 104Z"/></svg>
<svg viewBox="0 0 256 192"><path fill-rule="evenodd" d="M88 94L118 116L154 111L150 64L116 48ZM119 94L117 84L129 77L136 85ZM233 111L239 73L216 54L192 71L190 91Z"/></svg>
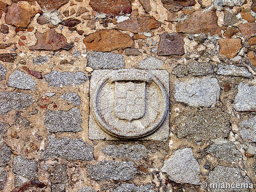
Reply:
<svg viewBox="0 0 256 192"><path fill-rule="evenodd" d="M160 36L157 55L183 55L184 36L176 32L164 33Z"/></svg>

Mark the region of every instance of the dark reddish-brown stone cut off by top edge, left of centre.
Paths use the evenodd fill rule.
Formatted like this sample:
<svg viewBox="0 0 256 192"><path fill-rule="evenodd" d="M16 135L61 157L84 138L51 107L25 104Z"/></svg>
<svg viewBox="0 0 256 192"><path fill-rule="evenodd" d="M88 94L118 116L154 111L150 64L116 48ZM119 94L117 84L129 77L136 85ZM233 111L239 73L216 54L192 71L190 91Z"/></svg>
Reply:
<svg viewBox="0 0 256 192"><path fill-rule="evenodd" d="M91 0L90 6L94 11L105 13L111 18L132 12L132 4L129 0Z"/></svg>

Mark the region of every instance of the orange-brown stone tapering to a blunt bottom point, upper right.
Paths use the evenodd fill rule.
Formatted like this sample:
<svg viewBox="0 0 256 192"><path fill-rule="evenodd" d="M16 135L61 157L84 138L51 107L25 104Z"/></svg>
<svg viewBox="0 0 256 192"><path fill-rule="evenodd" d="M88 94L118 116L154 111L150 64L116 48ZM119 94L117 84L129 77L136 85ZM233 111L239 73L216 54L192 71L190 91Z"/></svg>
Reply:
<svg viewBox="0 0 256 192"><path fill-rule="evenodd" d="M219 39L220 54L226 55L229 59L236 56L242 48L241 39Z"/></svg>

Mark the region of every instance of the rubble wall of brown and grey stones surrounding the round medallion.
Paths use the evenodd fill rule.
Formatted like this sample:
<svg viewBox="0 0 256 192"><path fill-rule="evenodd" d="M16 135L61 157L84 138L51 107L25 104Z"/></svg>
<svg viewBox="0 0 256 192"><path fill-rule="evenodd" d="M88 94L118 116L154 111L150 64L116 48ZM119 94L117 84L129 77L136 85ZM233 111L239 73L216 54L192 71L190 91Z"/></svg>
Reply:
<svg viewBox="0 0 256 192"><path fill-rule="evenodd" d="M255 183L255 0L0 1L0 191ZM162 132L97 132L90 83L124 68L158 73Z"/></svg>

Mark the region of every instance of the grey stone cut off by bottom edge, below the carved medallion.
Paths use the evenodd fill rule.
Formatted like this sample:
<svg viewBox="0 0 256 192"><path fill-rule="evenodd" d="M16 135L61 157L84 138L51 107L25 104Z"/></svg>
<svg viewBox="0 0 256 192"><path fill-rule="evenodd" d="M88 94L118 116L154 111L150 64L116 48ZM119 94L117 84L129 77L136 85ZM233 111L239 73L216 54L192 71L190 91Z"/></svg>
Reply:
<svg viewBox="0 0 256 192"><path fill-rule="evenodd" d="M134 184L125 183L120 187L117 187L113 192L155 192L153 190L154 186L152 184L140 185L136 187Z"/></svg>

